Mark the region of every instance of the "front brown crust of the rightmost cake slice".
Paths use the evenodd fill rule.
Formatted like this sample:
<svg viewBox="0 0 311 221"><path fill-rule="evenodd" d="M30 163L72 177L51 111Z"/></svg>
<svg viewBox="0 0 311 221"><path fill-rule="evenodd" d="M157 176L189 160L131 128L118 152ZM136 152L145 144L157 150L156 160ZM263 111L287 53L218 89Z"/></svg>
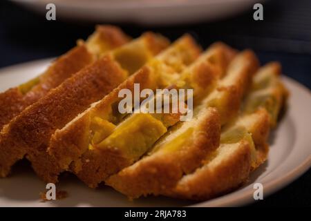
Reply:
<svg viewBox="0 0 311 221"><path fill-rule="evenodd" d="M195 173L182 177L176 187L165 195L188 200L208 200L236 189L249 176L250 146L246 141L240 142L220 162L211 162Z"/></svg>

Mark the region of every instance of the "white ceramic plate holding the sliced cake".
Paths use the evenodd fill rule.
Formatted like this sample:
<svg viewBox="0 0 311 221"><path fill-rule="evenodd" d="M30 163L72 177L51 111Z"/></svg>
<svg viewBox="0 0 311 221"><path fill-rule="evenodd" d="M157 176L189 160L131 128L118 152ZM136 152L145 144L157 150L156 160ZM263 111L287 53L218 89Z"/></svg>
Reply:
<svg viewBox="0 0 311 221"><path fill-rule="evenodd" d="M6 90L41 73L50 59L32 61L0 70L0 90ZM296 81L284 77L290 89L289 108L270 137L270 155L247 184L220 198L206 202L189 202L164 197L148 197L130 202L120 193L103 186L89 189L73 175L62 177L57 189L67 191L64 200L41 202L39 192L45 191L28 164L18 164L12 175L0 179L0 206L239 206L254 202L253 185L263 184L263 196L289 184L311 166L311 93Z"/></svg>

